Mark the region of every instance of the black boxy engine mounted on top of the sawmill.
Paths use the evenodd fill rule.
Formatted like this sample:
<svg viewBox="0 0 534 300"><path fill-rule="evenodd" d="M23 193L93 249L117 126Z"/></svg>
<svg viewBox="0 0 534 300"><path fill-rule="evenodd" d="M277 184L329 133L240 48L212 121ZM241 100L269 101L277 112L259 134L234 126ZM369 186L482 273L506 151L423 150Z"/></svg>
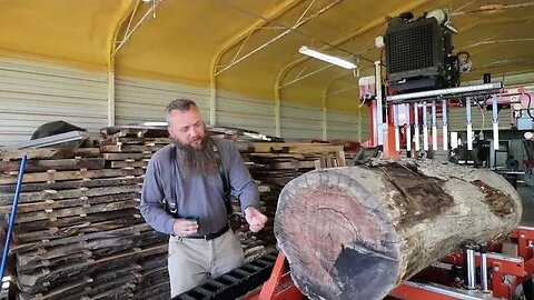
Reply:
<svg viewBox="0 0 534 300"><path fill-rule="evenodd" d="M433 10L415 20L412 12L387 19L384 43L390 89L413 92L459 84L463 63L458 62L459 53L453 53L452 42L457 31L446 10Z"/></svg>

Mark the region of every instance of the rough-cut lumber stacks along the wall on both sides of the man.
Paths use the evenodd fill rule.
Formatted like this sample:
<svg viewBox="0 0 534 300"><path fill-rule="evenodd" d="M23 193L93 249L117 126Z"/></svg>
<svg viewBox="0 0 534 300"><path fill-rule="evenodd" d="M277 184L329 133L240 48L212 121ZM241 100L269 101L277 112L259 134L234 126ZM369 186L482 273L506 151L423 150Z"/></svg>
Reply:
<svg viewBox="0 0 534 300"><path fill-rule="evenodd" d="M29 158L11 248L21 299L168 298L167 238L138 212L146 166L169 142L167 131L126 126L100 134L98 148L0 150L0 211L6 216L19 159ZM315 168L343 164L340 147L236 144L246 149L270 222L286 182ZM240 218L237 233L251 260L275 244L273 224L264 236L250 232L234 204Z"/></svg>

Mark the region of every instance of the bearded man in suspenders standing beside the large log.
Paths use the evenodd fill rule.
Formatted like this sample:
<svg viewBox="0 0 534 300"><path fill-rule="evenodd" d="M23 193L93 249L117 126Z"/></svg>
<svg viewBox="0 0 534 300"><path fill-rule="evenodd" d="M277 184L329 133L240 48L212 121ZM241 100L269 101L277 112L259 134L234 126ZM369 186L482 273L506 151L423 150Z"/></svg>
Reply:
<svg viewBox="0 0 534 300"><path fill-rule="evenodd" d="M258 210L258 187L239 152L230 141L206 134L197 104L178 99L165 114L172 143L150 159L139 210L155 230L170 236L170 296L176 297L244 263L228 226L224 181L239 198L251 231L261 230L267 217Z"/></svg>

